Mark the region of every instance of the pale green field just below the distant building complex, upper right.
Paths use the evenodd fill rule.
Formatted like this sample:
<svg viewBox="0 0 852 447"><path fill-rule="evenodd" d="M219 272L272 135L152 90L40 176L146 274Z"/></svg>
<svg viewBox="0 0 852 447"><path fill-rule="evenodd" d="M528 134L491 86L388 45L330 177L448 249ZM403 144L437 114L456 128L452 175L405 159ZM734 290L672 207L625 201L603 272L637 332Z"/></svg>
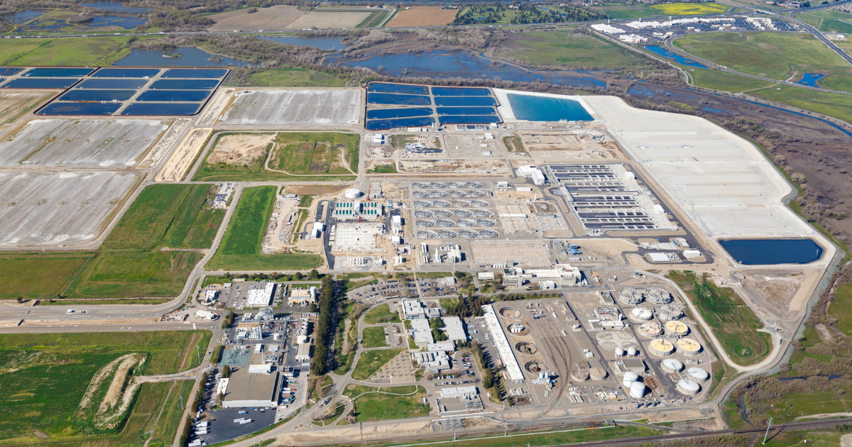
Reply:
<svg viewBox="0 0 852 447"><path fill-rule="evenodd" d="M732 70L774 79L786 79L794 71L852 73L849 64L811 34L698 33L676 39L675 45Z"/></svg>

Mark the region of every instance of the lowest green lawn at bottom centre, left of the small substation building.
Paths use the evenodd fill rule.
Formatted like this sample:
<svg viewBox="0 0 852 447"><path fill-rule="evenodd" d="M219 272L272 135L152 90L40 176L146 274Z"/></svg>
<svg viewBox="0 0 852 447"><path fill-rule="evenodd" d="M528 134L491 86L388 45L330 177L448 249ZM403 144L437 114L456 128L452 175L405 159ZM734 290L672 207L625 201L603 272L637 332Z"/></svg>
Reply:
<svg viewBox="0 0 852 447"><path fill-rule="evenodd" d="M376 388L348 385L344 394L355 398L355 418L359 422L429 415L429 405L423 404L423 398L426 397L426 389L423 387Z"/></svg>

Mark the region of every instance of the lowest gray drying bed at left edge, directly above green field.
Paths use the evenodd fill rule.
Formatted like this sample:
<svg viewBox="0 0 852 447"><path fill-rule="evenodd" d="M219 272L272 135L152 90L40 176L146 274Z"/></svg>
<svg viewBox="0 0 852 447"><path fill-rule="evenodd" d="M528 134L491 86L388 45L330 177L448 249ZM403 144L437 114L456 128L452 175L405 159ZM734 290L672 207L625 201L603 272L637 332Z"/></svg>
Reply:
<svg viewBox="0 0 852 447"><path fill-rule="evenodd" d="M0 172L0 246L89 243L140 179L137 172Z"/></svg>

